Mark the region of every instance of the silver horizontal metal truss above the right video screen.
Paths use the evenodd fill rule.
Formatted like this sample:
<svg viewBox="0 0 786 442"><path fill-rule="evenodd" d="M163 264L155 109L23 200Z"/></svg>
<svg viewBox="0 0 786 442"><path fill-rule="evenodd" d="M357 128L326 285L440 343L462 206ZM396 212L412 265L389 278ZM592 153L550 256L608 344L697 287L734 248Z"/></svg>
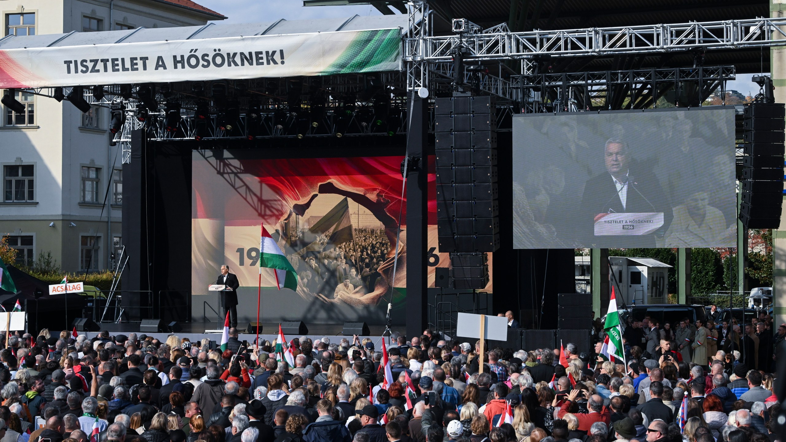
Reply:
<svg viewBox="0 0 786 442"><path fill-rule="evenodd" d="M601 56L621 53L663 53L782 46L786 18L755 18L685 24L655 24L564 31L505 32L417 37L407 35L407 64L451 61L465 49L465 61ZM523 66L523 73L528 73ZM415 84L415 83L412 83ZM410 86L412 86L410 84Z"/></svg>

